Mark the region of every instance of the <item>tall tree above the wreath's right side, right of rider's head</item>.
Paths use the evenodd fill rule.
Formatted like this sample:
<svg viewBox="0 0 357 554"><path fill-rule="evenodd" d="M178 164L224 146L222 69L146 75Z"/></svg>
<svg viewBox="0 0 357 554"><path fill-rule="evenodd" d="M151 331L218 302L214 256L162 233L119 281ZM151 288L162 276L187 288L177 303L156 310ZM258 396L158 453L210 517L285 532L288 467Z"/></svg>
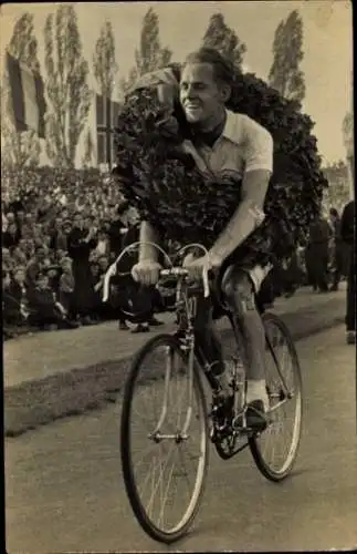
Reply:
<svg viewBox="0 0 357 554"><path fill-rule="evenodd" d="M282 20L274 35L274 60L269 73L269 83L282 96L302 102L305 98L305 79L300 69L304 58L303 20L297 10Z"/></svg>

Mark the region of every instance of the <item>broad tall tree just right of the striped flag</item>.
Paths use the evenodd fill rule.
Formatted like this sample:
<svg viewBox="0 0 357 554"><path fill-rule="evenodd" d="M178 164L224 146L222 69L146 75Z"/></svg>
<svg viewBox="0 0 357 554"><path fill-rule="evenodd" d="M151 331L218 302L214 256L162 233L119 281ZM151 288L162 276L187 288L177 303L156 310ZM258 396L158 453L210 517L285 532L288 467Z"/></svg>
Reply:
<svg viewBox="0 0 357 554"><path fill-rule="evenodd" d="M55 14L48 17L44 40L46 93L52 107L46 116L46 153L53 165L73 167L92 94L72 6L60 4Z"/></svg>

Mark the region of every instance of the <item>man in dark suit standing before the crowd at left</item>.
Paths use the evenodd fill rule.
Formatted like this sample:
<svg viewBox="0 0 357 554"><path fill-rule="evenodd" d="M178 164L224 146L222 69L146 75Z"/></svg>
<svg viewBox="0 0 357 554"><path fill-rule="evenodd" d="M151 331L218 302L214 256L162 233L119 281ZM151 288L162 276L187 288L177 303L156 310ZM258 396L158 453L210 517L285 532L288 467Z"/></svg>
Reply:
<svg viewBox="0 0 357 554"><path fill-rule="evenodd" d="M69 235L69 254L73 260L74 305L84 325L93 325L91 318L93 286L90 254L96 246L95 229L85 229L82 214L74 215L73 229Z"/></svg>

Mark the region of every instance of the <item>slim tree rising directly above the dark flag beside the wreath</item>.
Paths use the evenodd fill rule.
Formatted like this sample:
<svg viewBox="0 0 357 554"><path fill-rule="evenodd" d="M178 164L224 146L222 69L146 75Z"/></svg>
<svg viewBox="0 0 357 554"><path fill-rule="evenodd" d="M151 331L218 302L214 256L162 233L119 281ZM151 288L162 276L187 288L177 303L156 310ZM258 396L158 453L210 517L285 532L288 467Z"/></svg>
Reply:
<svg viewBox="0 0 357 554"><path fill-rule="evenodd" d="M96 41L93 68L101 94L112 99L118 66L115 61L115 42L112 23L109 21L104 23L101 35Z"/></svg>

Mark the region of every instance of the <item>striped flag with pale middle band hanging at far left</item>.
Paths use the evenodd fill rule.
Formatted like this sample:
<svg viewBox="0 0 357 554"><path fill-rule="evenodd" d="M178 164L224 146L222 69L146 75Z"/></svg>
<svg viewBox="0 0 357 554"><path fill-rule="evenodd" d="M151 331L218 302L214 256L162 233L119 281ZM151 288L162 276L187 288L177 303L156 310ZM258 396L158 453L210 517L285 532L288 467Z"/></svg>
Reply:
<svg viewBox="0 0 357 554"><path fill-rule="evenodd" d="M40 138L44 138L46 104L40 73L20 63L9 52L7 52L7 65L17 131L22 132L33 129Z"/></svg>

